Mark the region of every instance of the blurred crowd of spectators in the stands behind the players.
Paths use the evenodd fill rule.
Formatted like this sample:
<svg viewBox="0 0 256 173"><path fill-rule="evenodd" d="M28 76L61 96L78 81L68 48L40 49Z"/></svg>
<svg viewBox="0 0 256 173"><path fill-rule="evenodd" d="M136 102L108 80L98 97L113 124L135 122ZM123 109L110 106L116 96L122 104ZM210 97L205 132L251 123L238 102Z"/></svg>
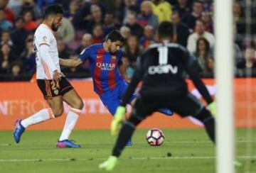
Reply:
<svg viewBox="0 0 256 173"><path fill-rule="evenodd" d="M128 77L140 53L156 43L156 29L162 21L176 27L174 41L186 47L198 60L198 72L213 77L215 47L213 0L1 0L0 80L29 80L36 72L33 33L43 21L43 10L62 4L63 24L55 34L59 56L74 59L93 43L102 43L113 29L125 38L123 62ZM234 1L235 74L256 76L256 0L248 7ZM225 58L225 57L223 57ZM90 77L88 62L63 69L68 77Z"/></svg>

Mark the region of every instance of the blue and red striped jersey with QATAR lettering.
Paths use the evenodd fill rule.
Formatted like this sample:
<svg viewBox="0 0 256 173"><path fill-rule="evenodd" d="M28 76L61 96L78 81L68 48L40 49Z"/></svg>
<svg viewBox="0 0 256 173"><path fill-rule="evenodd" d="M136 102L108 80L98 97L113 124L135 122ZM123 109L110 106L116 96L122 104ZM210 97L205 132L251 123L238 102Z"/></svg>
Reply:
<svg viewBox="0 0 256 173"><path fill-rule="evenodd" d="M118 68L122 65L121 50L115 53L107 52L101 43L85 48L79 57L82 62L90 61L94 91L97 94L114 90L117 84L124 80Z"/></svg>

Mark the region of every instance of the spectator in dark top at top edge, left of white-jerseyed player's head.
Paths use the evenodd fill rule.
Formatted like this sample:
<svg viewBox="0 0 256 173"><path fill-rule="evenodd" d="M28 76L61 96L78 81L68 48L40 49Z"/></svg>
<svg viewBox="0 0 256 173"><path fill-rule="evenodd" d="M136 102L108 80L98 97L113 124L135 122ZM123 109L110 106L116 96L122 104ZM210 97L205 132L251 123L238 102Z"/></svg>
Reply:
<svg viewBox="0 0 256 173"><path fill-rule="evenodd" d="M17 16L23 16L26 11L31 11L33 20L39 16L42 16L41 9L39 9L34 0L23 0L21 6L16 6L13 11L15 18Z"/></svg>

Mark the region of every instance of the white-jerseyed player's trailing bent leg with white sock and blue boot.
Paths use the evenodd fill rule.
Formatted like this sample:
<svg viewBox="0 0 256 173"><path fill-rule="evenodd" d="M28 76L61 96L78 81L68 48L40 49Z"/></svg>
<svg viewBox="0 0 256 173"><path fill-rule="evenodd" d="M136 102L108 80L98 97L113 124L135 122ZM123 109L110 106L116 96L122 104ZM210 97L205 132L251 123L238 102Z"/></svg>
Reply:
<svg viewBox="0 0 256 173"><path fill-rule="evenodd" d="M28 126L42 123L43 121L47 121L62 115L63 99L61 96L55 96L53 98L46 99L46 101L49 108L43 108L41 111L38 111L24 120L19 119L16 121L16 127L14 130L14 140L16 143L19 143L22 133L26 130L26 128L28 128Z"/></svg>

